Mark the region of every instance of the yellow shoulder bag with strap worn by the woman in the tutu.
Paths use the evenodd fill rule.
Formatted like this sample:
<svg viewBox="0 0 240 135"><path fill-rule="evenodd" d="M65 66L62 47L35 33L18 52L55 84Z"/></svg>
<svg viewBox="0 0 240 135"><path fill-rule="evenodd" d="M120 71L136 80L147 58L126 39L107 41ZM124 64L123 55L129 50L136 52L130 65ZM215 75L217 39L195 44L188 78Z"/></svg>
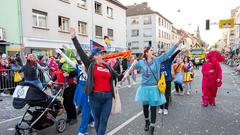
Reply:
<svg viewBox="0 0 240 135"><path fill-rule="evenodd" d="M166 80L165 80L165 75L164 75L164 73L161 73L161 78L158 80L157 77L154 75L152 69L151 69L150 66L148 65L148 62L147 62L147 66L148 66L148 68L150 69L150 71L152 72L153 77L155 78L155 80L158 82L158 84L157 84L158 90L159 90L162 94L165 94L167 85L166 85Z"/></svg>

